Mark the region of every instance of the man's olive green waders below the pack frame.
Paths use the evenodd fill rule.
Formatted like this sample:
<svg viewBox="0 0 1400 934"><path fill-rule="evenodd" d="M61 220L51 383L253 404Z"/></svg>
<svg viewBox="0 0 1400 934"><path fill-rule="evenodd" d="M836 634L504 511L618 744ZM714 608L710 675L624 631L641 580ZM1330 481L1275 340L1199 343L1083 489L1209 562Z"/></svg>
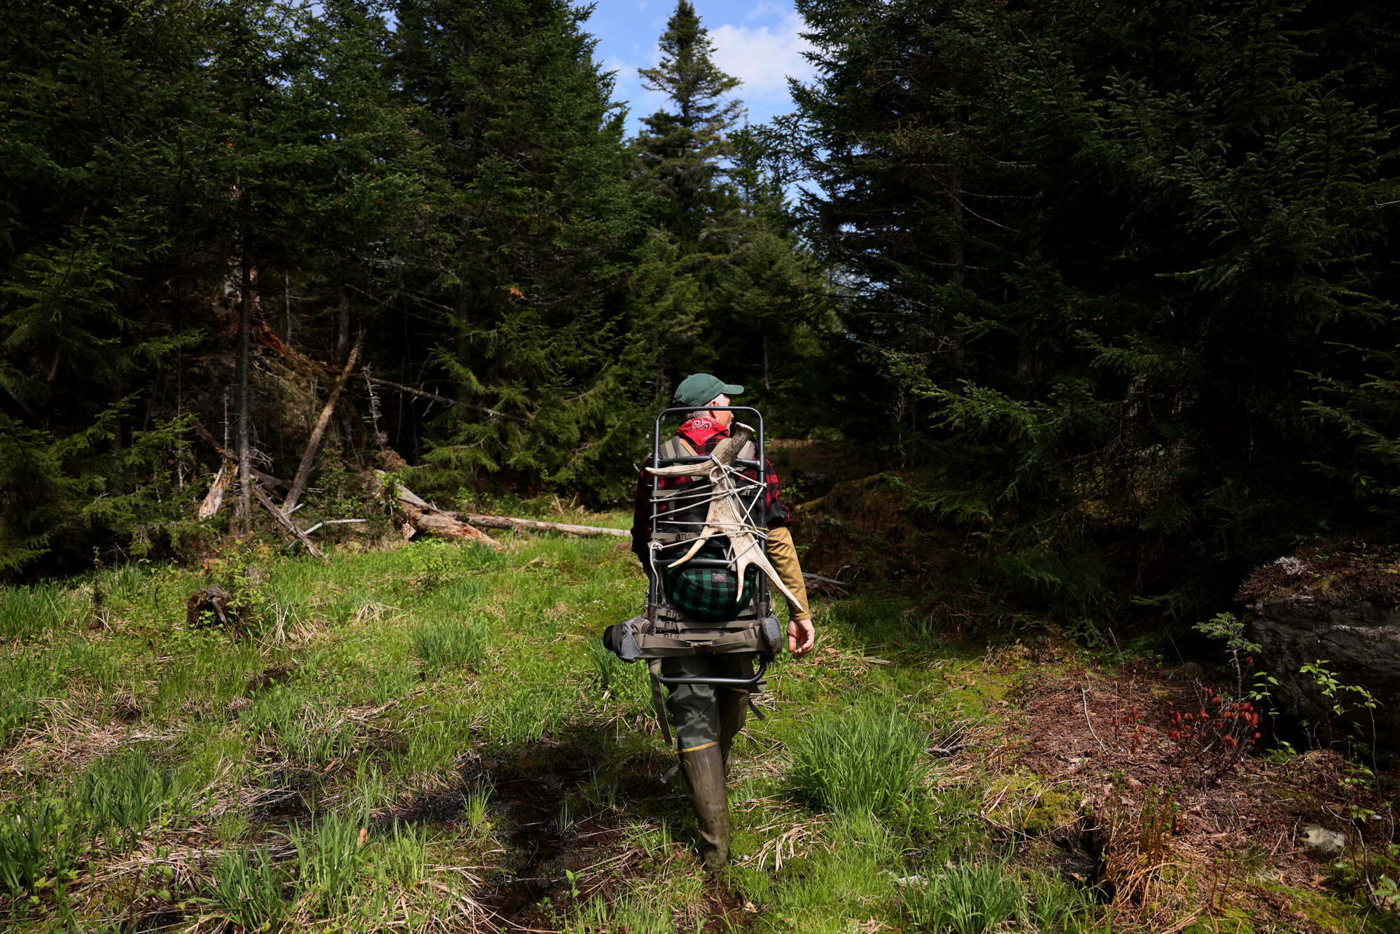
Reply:
<svg viewBox="0 0 1400 934"><path fill-rule="evenodd" d="M749 678L748 655L678 655L661 661L666 678ZM680 780L700 829L700 858L715 872L729 860L729 798L725 779L734 738L743 730L749 692L714 685L675 685L666 711L676 731Z"/></svg>

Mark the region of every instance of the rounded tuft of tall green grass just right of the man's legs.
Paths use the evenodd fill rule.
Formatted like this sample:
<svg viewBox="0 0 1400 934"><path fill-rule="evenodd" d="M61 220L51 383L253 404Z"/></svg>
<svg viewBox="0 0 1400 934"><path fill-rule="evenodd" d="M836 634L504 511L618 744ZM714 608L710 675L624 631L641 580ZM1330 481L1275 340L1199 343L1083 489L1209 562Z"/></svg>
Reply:
<svg viewBox="0 0 1400 934"><path fill-rule="evenodd" d="M924 745L918 727L895 711L822 718L794 744L792 784L833 811L882 814L918 781Z"/></svg>

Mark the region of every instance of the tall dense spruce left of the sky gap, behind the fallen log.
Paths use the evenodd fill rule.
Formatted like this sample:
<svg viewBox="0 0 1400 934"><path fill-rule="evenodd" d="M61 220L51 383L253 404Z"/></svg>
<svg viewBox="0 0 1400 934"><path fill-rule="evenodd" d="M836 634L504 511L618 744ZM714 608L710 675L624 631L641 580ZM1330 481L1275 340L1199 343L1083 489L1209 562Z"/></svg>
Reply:
<svg viewBox="0 0 1400 934"><path fill-rule="evenodd" d="M456 384L424 482L620 492L640 421L622 113L564 0L406 1L398 67L437 147L416 298Z"/></svg>

